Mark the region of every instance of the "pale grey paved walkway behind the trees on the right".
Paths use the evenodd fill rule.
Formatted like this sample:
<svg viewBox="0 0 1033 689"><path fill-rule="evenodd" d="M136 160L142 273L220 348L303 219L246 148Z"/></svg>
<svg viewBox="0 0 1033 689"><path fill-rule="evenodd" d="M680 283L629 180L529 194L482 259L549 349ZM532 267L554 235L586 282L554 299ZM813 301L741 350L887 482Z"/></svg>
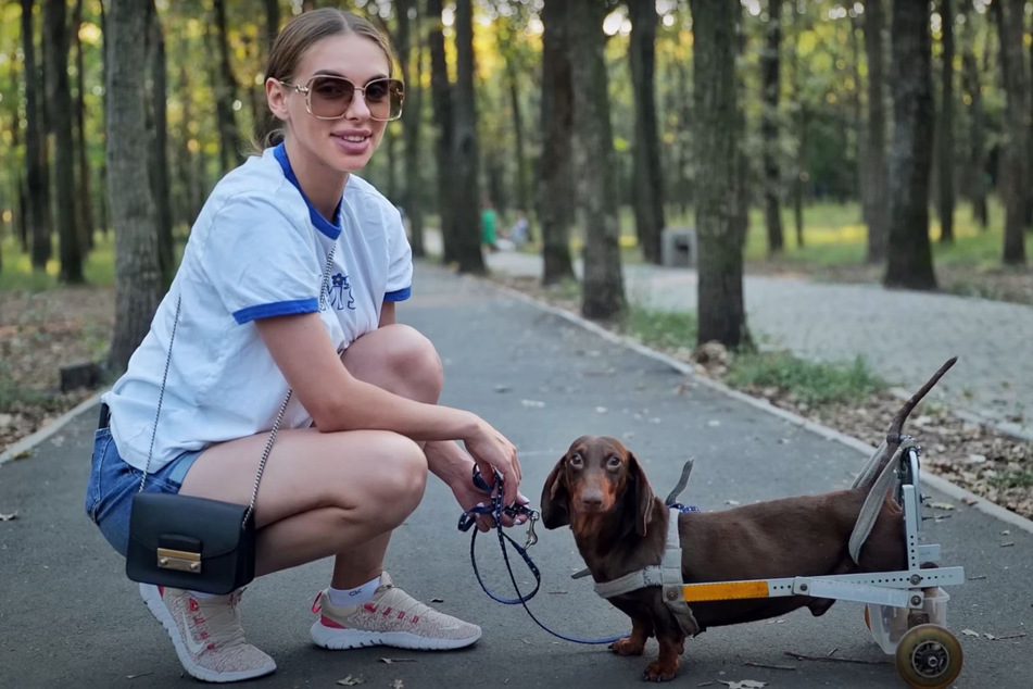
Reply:
<svg viewBox="0 0 1033 689"><path fill-rule="evenodd" d="M536 255L495 253L488 264L541 275ZM625 267L629 300L666 310L695 310L696 279L694 270ZM907 390L959 355L932 398L949 399L953 409L1033 439L1033 306L761 276L745 277L744 293L746 324L764 343L817 361L861 355Z"/></svg>

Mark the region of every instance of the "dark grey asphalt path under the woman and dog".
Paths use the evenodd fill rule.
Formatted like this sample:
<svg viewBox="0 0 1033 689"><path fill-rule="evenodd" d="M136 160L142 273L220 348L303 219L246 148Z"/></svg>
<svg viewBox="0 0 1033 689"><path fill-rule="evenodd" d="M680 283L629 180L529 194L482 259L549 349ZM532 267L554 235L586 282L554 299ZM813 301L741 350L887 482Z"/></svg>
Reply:
<svg viewBox="0 0 1033 689"><path fill-rule="evenodd" d="M438 347L446 372L443 402L478 412L517 444L524 492L536 504L545 476L582 434L622 438L660 494L682 462L695 456L682 500L704 510L839 489L866 459L484 281L420 265L414 298L399 315ZM17 513L0 522L0 687L164 688L194 681L182 674L167 636L125 578L122 559L84 515L95 426L96 409L84 411L30 456L0 466L0 513ZM872 428L869 440L878 441L882 430ZM965 652L955 686L1029 687L1033 535L954 503L950 512L937 511L949 518L925 522L925 534L943 546L943 564L963 565L970 579L948 591L947 626ZM480 624L484 636L475 647L437 653L313 647L310 605L330 573L330 562L323 561L249 587L248 638L279 668L248 684L330 688L351 677L363 687L408 689L639 686L655 642L644 657L617 657L605 647L555 639L519 606L493 602L474 577L469 537L455 527L458 514L451 493L432 479L419 509L395 533L387 568L420 600L440 599L439 609ZM521 540L522 531L514 536ZM569 578L582 566L569 530L543 530L540 537L530 551L543 573L542 590L530 602L536 614L568 635L627 632L627 618L595 597L590 579ZM483 537L477 543L489 586L512 594L497 544ZM517 577L521 586L530 584L526 571ZM799 661L786 653L871 663ZM862 606L854 603L836 603L818 618L803 610L708 630L686 642L672 686L723 689L745 679L769 689L904 686L865 628Z"/></svg>

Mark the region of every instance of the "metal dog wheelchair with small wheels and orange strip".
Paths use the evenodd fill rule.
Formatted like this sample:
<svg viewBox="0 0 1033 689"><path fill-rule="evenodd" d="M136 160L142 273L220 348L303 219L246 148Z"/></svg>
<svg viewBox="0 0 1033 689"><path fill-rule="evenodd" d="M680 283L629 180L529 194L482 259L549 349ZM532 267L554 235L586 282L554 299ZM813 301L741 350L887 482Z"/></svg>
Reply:
<svg viewBox="0 0 1033 689"><path fill-rule="evenodd" d="M885 444L880 447L869 461L869 467L878 464L885 451ZM904 681L909 687L921 689L948 687L961 672L962 653L957 637L946 628L950 597L941 587L963 584L965 568L940 567L940 546L920 543L919 454L918 446L905 437L894 458L896 461L886 466L884 480L869 496L872 504L877 504L882 502L889 489L894 490L894 498L903 511L907 569L689 584L683 586L685 602L691 605L697 601L810 596L865 603L865 623L879 647L886 654L894 655L896 669ZM864 509L861 514L865 514ZM859 518L859 524L862 518ZM866 530L860 536L858 550L867 535Z"/></svg>

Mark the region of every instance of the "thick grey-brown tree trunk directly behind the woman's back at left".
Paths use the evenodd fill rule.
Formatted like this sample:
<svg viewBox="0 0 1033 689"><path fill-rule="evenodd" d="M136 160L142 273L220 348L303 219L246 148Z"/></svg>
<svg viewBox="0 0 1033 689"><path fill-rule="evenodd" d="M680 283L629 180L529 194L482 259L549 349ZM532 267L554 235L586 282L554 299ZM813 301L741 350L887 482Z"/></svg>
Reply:
<svg viewBox="0 0 1033 689"><path fill-rule="evenodd" d="M108 174L115 229L115 331L111 366L125 371L161 299L154 202L148 181L144 129L148 5L109 0Z"/></svg>

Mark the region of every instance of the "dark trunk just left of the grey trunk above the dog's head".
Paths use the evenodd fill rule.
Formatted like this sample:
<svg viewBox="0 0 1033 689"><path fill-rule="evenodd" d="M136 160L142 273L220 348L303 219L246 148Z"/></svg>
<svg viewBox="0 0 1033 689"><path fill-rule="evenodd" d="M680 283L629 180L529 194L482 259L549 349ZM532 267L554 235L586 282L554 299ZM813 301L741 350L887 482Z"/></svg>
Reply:
<svg viewBox="0 0 1033 689"><path fill-rule="evenodd" d="M538 216L542 225L543 285L574 277L570 225L574 224L574 82L567 0L542 7L542 155L538 163Z"/></svg>

